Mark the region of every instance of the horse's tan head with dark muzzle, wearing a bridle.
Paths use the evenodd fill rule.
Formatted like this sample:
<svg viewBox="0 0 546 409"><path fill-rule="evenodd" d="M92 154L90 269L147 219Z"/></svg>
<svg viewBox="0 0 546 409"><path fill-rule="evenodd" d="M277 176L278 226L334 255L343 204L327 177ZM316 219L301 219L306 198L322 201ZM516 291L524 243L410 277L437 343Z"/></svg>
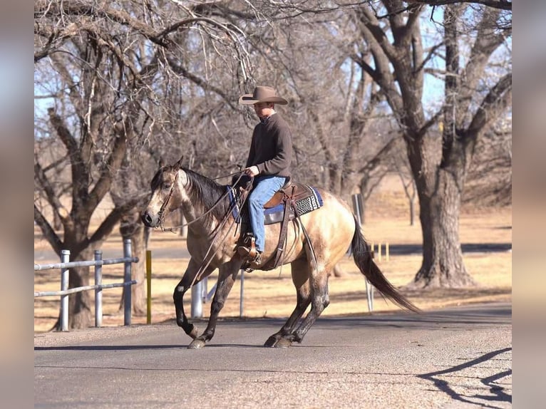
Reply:
<svg viewBox="0 0 546 409"><path fill-rule="evenodd" d="M160 167L151 187L152 197L140 215L147 227L158 227L172 210L180 207L181 190L187 183L187 175L181 170L182 158L175 165Z"/></svg>

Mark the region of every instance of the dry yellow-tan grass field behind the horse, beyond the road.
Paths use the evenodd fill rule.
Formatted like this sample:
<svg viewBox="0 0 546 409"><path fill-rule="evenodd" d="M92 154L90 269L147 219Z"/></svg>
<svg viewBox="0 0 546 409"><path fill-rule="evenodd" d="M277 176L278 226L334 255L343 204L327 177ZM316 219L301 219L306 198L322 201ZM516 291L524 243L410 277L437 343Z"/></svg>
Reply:
<svg viewBox="0 0 546 409"><path fill-rule="evenodd" d="M376 203L381 204L378 200ZM391 202L392 203L392 202ZM390 244L420 244L421 227L408 225L406 217L393 219L376 211L364 225L364 234L369 242ZM398 213L399 214L399 213ZM511 209L493 210L486 213L464 212L460 220L460 239L463 243L511 243ZM152 254L160 248L180 249L185 241L172 233L154 232L150 242ZM105 243L106 248L120 249L120 237L113 235ZM39 232L35 232L35 249L47 248ZM52 260L51 262L56 262ZM180 280L187 266L187 259L153 259L152 271L152 321L157 323L173 319L172 290ZM386 277L395 286L403 286L413 279L419 266L421 255L392 256L379 263ZM512 299L512 254L511 252L465 254L465 266L480 284L472 289L441 289L427 291L403 291L403 294L423 310L446 306L490 301L511 301ZM341 262L344 275L330 279L330 306L325 316L346 314L369 314L366 304L364 278L356 269L352 259ZM119 281L123 276L122 266L103 268L104 283ZM216 275L209 280L209 289L215 283ZM58 274L52 271L36 271L35 291L51 291L59 287ZM103 291L103 324L117 326L123 324L123 314L118 312L120 289ZM222 317L239 316L240 281L237 281L230 298L222 310ZM284 266L275 271L254 271L244 275L244 316L247 317L287 317L294 308L295 291L290 279L290 267ZM190 295L186 296L187 313L190 311ZM384 301L376 293L374 313L396 310L390 301ZM204 315L208 316L205 306ZM57 298L38 298L34 300L34 331L47 331L58 316ZM133 316L133 323L145 323L145 316Z"/></svg>

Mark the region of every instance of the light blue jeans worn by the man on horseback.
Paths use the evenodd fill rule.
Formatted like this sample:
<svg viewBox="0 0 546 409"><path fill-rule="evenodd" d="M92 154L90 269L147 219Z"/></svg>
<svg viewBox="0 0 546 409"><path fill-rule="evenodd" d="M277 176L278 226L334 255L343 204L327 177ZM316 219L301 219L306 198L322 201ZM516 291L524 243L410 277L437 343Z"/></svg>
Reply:
<svg viewBox="0 0 546 409"><path fill-rule="evenodd" d="M284 176L254 177L254 188L248 197L250 227L254 233L256 249L263 252L265 248L264 205L271 199L277 190L284 186L287 180Z"/></svg>

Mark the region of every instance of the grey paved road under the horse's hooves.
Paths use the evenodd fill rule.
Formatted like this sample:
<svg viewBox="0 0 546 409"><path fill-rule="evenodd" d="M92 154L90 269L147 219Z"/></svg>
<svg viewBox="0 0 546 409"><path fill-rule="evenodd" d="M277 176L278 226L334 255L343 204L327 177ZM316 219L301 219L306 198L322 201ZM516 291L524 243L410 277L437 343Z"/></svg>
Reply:
<svg viewBox="0 0 546 409"><path fill-rule="evenodd" d="M512 306L221 321L202 350L172 321L34 338L35 408L511 408ZM198 323L200 329L204 323Z"/></svg>

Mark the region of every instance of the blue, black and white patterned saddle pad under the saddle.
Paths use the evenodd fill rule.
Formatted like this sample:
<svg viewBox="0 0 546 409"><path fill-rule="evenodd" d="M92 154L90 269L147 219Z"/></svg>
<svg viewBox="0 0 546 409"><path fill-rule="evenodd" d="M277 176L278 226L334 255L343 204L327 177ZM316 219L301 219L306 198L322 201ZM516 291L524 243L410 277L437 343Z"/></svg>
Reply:
<svg viewBox="0 0 546 409"><path fill-rule="evenodd" d="M313 194L309 197L305 197L304 199L296 201L296 209L299 216L319 209L324 204L322 202L322 197L319 191L312 186L307 187L309 187ZM249 222L248 209L246 206L244 206L243 211L239 208L239 202L237 200L240 195L239 190L234 189L231 186L228 186L227 189L229 190L230 204L232 206L232 214L233 217L235 217L235 222L240 223L242 219L242 222L247 224ZM289 212L289 219L294 219L295 215L293 209L289 209ZM282 222L283 214L284 203L280 203L279 205L271 207L269 209L264 209L264 224L274 224Z"/></svg>

